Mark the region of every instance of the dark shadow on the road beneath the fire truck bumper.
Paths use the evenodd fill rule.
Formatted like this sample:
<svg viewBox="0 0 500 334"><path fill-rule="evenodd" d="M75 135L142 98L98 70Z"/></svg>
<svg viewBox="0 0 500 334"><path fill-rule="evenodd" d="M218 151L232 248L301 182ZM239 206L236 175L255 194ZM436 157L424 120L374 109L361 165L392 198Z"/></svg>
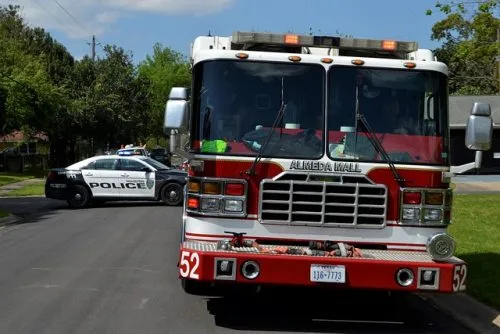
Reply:
<svg viewBox="0 0 500 334"><path fill-rule="evenodd" d="M283 290L207 300L217 326L307 333L471 333L414 295Z"/></svg>

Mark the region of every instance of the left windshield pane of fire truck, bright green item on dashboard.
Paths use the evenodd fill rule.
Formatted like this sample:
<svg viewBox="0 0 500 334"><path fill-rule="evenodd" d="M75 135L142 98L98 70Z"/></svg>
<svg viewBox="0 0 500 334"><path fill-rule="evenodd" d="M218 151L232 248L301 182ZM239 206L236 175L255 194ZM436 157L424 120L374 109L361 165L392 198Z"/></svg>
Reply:
<svg viewBox="0 0 500 334"><path fill-rule="evenodd" d="M192 147L207 154L256 156L261 151L262 157L320 158L325 81L326 72L319 64L233 60L197 64ZM280 109L283 115L273 126Z"/></svg>

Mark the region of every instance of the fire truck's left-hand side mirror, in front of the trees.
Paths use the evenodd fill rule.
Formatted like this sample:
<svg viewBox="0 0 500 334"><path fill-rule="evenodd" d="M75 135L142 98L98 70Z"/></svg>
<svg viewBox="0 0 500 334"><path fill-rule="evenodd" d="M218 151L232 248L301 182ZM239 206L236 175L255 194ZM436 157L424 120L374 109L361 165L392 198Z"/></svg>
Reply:
<svg viewBox="0 0 500 334"><path fill-rule="evenodd" d="M187 88L173 87L170 90L163 123L165 134L170 134L171 130L180 130L187 126L188 99L189 91Z"/></svg>

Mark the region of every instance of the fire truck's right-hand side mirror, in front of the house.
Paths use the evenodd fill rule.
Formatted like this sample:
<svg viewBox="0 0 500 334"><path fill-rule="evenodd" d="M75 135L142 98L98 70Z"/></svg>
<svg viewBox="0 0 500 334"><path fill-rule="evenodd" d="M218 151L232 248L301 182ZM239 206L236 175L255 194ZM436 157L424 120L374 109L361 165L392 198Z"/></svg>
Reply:
<svg viewBox="0 0 500 334"><path fill-rule="evenodd" d="M488 151L491 148L493 120L488 103L475 102L467 120L465 146L474 151Z"/></svg>

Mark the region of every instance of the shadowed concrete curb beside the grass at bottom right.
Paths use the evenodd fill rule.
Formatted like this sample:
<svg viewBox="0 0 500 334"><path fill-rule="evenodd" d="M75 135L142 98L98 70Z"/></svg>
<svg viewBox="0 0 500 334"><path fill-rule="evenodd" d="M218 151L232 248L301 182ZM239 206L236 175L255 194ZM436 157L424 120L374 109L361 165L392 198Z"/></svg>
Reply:
<svg viewBox="0 0 500 334"><path fill-rule="evenodd" d="M418 296L476 333L500 333L500 311L465 293L419 293Z"/></svg>

